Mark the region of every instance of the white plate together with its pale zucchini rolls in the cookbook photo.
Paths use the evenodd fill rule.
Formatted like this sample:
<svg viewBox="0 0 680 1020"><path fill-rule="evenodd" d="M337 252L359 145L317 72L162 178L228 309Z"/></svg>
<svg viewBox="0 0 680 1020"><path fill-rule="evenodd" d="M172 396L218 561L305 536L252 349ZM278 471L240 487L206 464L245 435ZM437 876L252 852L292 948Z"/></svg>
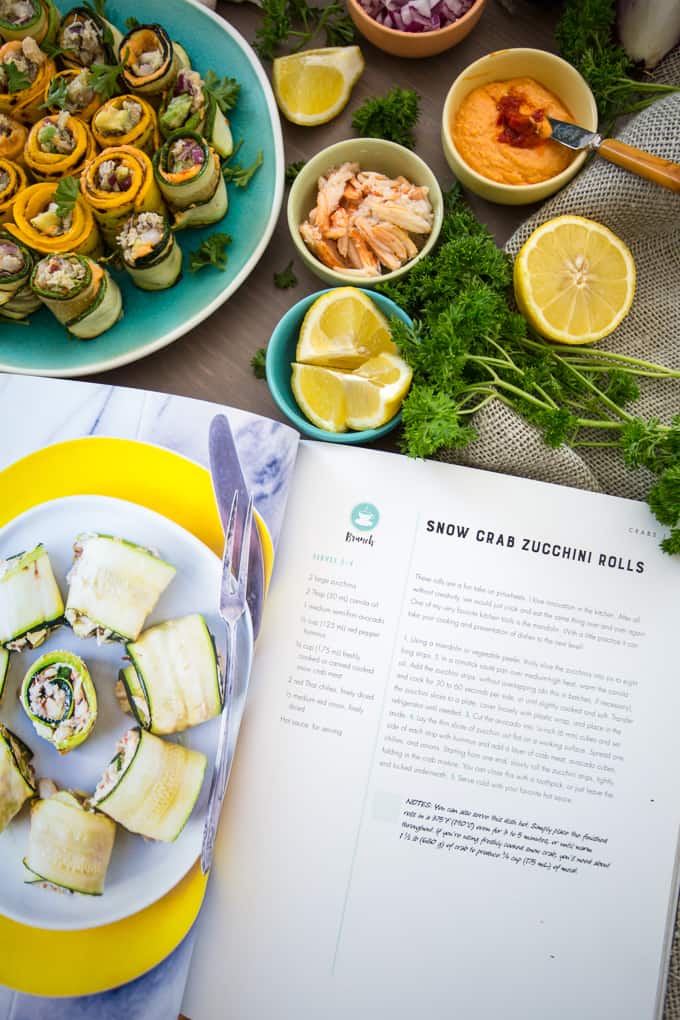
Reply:
<svg viewBox="0 0 680 1020"><path fill-rule="evenodd" d="M220 564L172 521L100 496L15 518L0 556L0 912L110 923L200 852Z"/></svg>

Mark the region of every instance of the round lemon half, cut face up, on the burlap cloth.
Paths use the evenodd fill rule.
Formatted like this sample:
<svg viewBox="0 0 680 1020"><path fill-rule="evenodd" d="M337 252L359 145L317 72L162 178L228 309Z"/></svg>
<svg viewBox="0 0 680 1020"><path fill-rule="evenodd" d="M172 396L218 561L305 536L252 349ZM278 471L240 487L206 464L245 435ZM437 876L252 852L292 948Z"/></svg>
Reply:
<svg viewBox="0 0 680 1020"><path fill-rule="evenodd" d="M515 297L536 333L563 344L609 336L631 306L635 262L621 238L583 216L537 227L515 260Z"/></svg>

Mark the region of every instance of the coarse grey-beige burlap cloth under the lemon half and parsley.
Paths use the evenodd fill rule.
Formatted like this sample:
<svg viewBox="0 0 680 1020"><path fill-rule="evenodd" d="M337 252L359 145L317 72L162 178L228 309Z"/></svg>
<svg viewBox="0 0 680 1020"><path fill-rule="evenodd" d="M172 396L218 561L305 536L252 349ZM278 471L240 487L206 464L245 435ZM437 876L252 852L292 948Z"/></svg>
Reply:
<svg viewBox="0 0 680 1020"><path fill-rule="evenodd" d="M680 49L657 68L655 79L680 84ZM680 93L637 114L617 137L680 163ZM597 346L680 369L680 195L594 157L516 231L506 250L515 255L539 223L565 213L606 223L635 258L637 289L632 308L619 328ZM645 380L633 410L669 421L680 412L680 384ZM644 498L649 489L651 475L626 468L618 452L552 450L532 425L499 401L485 405L474 424L479 438L465 450L446 451L442 460L631 499ZM664 1018L680 1020L678 926Z"/></svg>

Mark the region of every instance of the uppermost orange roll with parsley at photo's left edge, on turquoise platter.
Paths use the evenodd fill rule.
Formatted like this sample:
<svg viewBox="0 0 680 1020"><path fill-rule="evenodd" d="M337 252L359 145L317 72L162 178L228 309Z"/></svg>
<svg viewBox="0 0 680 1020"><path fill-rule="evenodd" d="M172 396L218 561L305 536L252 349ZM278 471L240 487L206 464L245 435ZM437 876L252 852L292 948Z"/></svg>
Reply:
<svg viewBox="0 0 680 1020"><path fill-rule="evenodd" d="M33 123L55 73L54 60L30 36L0 46L0 113Z"/></svg>

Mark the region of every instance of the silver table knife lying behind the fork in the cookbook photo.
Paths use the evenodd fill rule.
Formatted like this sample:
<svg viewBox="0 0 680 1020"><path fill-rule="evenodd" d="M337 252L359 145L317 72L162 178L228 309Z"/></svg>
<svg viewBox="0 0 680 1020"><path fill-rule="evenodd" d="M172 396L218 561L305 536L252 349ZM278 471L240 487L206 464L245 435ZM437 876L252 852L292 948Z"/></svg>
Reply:
<svg viewBox="0 0 680 1020"><path fill-rule="evenodd" d="M210 422L208 439L210 453L210 473L212 487L217 501L222 527L226 534L229 510L234 492L239 493L242 507L248 503L248 486L239 460L239 452L233 441L233 434L228 419L224 414L216 414ZM243 515L238 524L236 534L237 546L241 545L241 526ZM264 558L262 543L257 527L251 531L250 566L248 571L248 608L253 622L253 640L255 640L262 623L262 608L264 603Z"/></svg>

